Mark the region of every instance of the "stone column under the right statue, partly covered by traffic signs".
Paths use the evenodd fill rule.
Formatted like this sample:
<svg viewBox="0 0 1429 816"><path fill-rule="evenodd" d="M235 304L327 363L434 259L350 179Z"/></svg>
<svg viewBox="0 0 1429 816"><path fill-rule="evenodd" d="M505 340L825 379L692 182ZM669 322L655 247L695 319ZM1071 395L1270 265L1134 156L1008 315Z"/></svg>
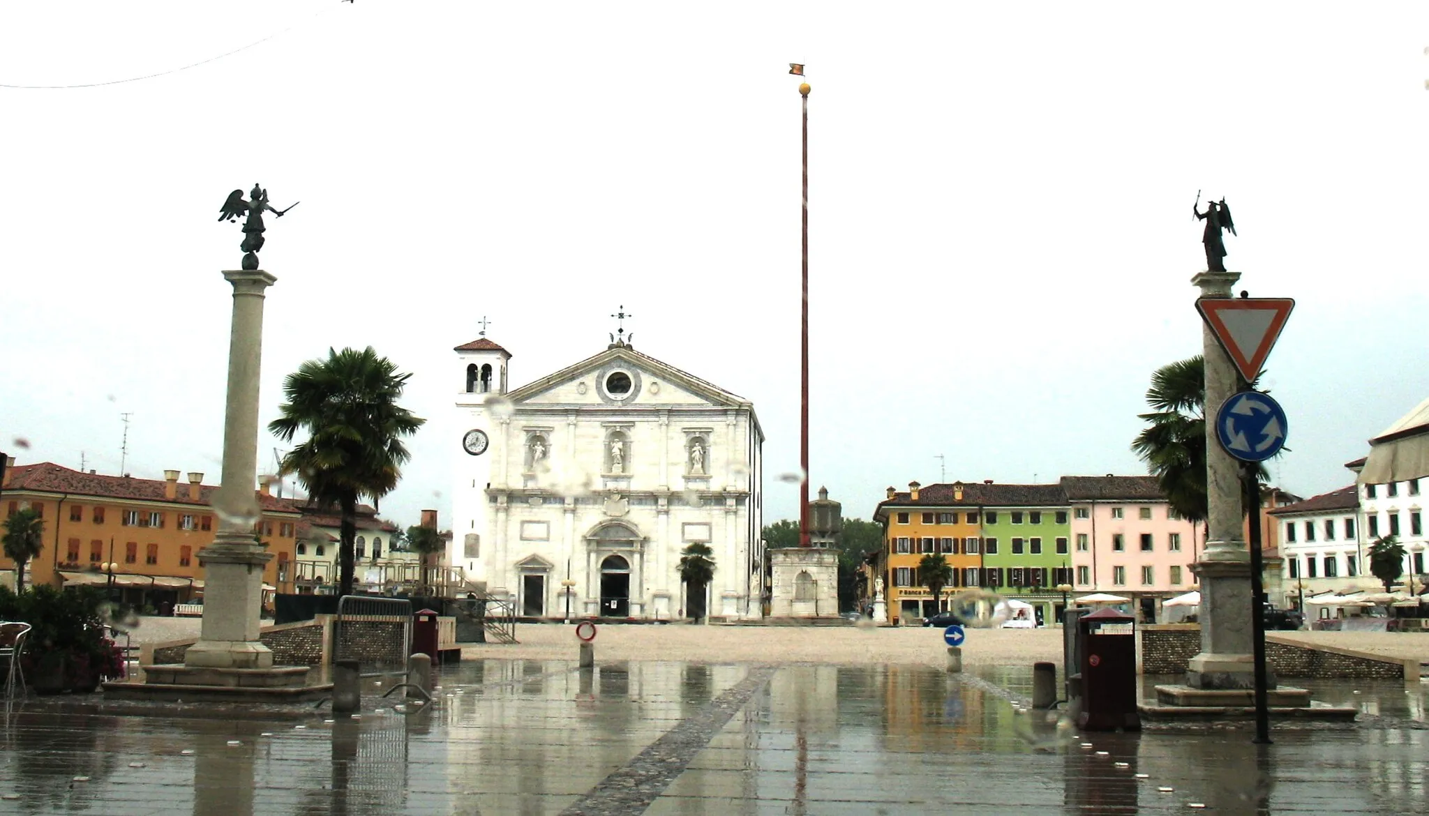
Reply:
<svg viewBox="0 0 1429 816"><path fill-rule="evenodd" d="M1239 272L1202 272L1190 282L1200 297L1230 297ZM1236 393L1236 369L1210 326L1202 324L1206 359L1206 547L1193 572L1200 579L1200 653L1186 683L1198 689L1255 686L1250 622L1250 552L1242 534L1240 464L1220 447L1216 412Z"/></svg>

